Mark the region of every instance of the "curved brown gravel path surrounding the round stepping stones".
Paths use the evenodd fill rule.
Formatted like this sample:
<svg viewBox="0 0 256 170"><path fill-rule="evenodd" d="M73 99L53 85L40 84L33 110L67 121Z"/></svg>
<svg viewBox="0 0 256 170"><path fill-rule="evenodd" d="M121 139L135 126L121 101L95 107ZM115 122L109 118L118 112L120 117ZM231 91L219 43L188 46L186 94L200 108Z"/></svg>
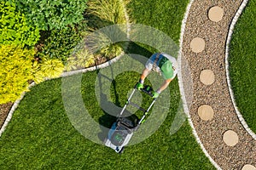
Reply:
<svg viewBox="0 0 256 170"><path fill-rule="evenodd" d="M241 0L195 0L189 9L183 33L182 53L189 62L193 81L194 98L189 115L207 153L222 169L246 169L246 164L256 167L256 140L247 133L236 115L225 71L226 38L241 3ZM218 22L208 17L209 9L216 5L224 9L224 16ZM195 37L205 41L205 48L198 53L190 47ZM204 70L214 73L214 82L210 85L201 82L201 71ZM214 115L211 120L201 119L198 114L201 105L212 107ZM224 142L224 133L228 130L235 133L233 139L227 136L233 145Z"/></svg>

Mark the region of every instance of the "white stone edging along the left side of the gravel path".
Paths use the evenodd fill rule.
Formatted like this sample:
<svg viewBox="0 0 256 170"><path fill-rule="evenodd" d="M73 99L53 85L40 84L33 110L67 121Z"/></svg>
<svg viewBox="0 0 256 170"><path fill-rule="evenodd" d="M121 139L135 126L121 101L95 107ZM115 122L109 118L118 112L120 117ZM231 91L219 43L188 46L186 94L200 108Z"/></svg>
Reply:
<svg viewBox="0 0 256 170"><path fill-rule="evenodd" d="M178 67L180 69L182 68L181 67L181 59L182 59L182 49L183 49L183 34L185 31L186 22L187 22L187 19L189 16L189 9L191 8L191 5L192 5L192 3L194 3L194 1L195 0L190 0L188 6L186 8L186 13L184 14L184 17L183 17L183 21L182 21L181 35L180 35L180 39L179 39L179 52L178 52L178 57L177 57L177 63L178 63ZM189 115L189 106L188 106L186 98L185 98L185 92L184 92L184 88L183 88L183 78L181 75L181 71L178 71L177 77L178 77L178 86L179 86L181 98L183 100L183 110L184 110L185 114L188 116L189 125L190 125L190 127L192 127L192 133L194 134L197 143L201 146L201 150L203 150L205 156L207 156L207 158L211 161L212 165L219 170L221 168L212 159L212 157L208 154L207 150L205 149L204 145L201 143L201 140L199 139L199 137L195 131L195 127L191 120L191 116Z"/></svg>

